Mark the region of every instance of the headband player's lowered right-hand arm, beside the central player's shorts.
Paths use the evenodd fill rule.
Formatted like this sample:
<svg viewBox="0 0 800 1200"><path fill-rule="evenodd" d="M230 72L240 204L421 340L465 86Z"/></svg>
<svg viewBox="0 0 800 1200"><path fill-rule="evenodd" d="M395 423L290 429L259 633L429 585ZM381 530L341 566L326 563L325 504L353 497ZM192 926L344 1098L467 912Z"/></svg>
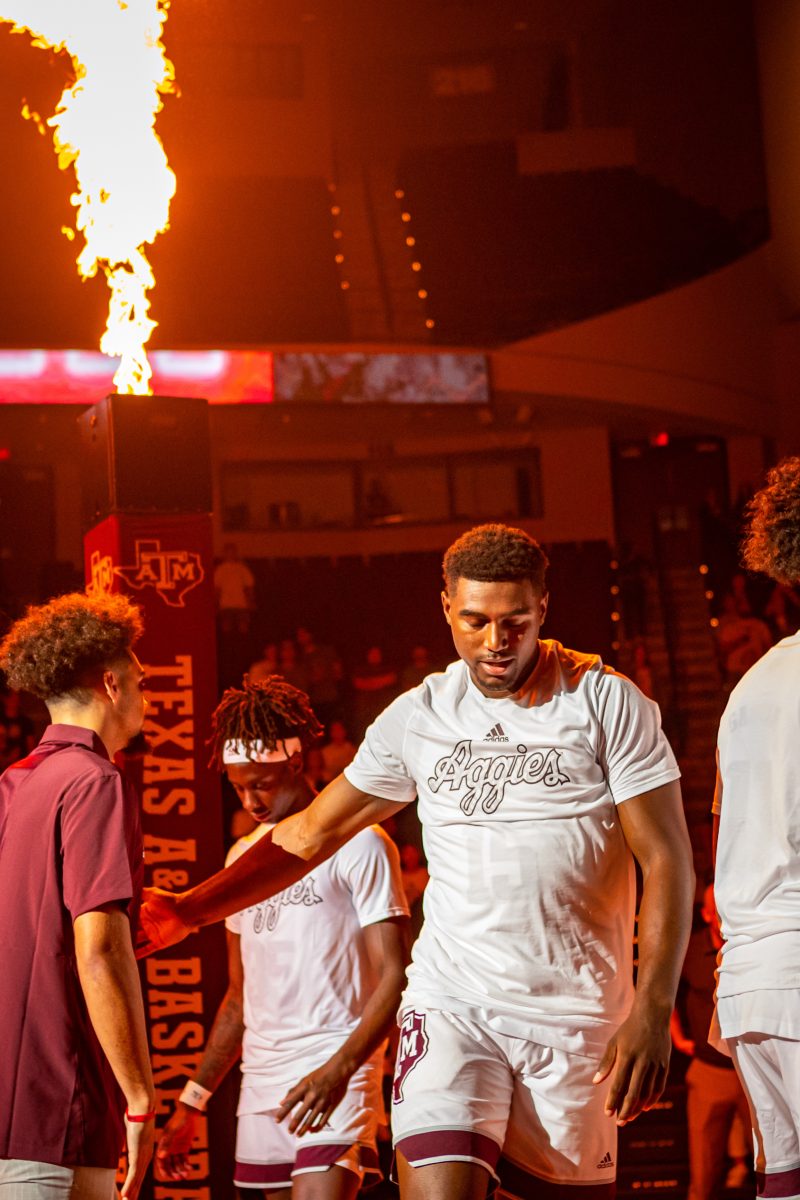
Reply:
<svg viewBox="0 0 800 1200"><path fill-rule="evenodd" d="M289 1132L301 1136L321 1129L343 1099L350 1078L387 1037L405 983L408 917L378 920L363 930L365 947L378 986L347 1042L317 1070L287 1092L277 1111L291 1114Z"/></svg>

